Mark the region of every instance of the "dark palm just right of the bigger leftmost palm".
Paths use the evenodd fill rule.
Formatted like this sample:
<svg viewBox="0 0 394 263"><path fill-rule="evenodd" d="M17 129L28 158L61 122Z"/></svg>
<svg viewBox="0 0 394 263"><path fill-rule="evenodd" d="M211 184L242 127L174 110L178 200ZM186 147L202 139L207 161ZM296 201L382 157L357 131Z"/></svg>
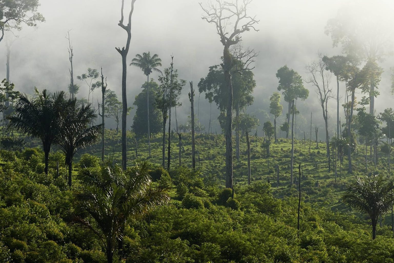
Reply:
<svg viewBox="0 0 394 263"><path fill-rule="evenodd" d="M65 153L69 168L68 184L71 187L72 158L80 148L99 140L102 124L90 126L97 119L90 103L81 106L74 98L67 101L67 106L67 115L61 121L57 144Z"/></svg>

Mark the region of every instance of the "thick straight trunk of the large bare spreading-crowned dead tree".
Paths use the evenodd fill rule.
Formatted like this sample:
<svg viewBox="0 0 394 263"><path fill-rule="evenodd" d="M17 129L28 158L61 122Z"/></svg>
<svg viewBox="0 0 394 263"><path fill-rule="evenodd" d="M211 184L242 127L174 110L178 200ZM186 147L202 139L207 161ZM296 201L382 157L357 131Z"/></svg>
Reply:
<svg viewBox="0 0 394 263"><path fill-rule="evenodd" d="M232 188L232 83L231 83L231 56L229 47L223 50L223 72L227 87L227 110L226 110L226 188Z"/></svg>

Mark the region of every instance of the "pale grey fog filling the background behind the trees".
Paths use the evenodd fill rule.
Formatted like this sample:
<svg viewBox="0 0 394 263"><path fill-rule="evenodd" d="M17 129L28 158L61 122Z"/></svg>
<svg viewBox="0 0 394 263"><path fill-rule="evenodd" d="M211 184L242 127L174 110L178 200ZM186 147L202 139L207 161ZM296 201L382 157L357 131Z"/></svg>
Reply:
<svg viewBox="0 0 394 263"><path fill-rule="evenodd" d="M128 64L135 54L150 51L162 59L163 70L169 67L173 54L174 68L178 69L179 77L188 82L193 81L197 90L200 78L206 76L208 67L221 62L220 57L223 54L223 46L219 42L215 26L201 19L203 11L199 2L203 2L203 5L207 3L206 0L137 0L132 16ZM10 80L15 84L16 90L33 93L34 86L37 86L39 90L67 91L70 82L70 63L67 51L69 43L65 36L67 31L71 30L74 83L81 87L77 96L87 97L88 88L84 82L77 80L76 76L85 73L88 67L102 67L104 76L107 77L108 88L115 90L121 99L121 56L115 50L115 47L123 47L126 43L126 33L117 25L121 0L40 0L40 3L39 12L45 16L46 22L40 23L36 29L24 25L22 31L14 32L18 38L8 32L0 42L0 78L6 76L6 41L11 40L13 44ZM129 6L130 4L125 5L127 13ZM255 0L251 4L249 14L256 15L256 19L260 20L256 26L259 31L242 35L243 46L259 52L253 69L256 80L253 94L255 103L247 112L258 115L261 123L266 121L263 119L265 114L262 110L269 113L269 97L277 91L278 86L275 73L283 65L288 65L306 79L308 76L305 73L305 65L312 60L318 60L317 52L327 56L342 53L340 47L333 48L331 36L324 33L327 21L336 17L338 10L349 10L349 17L352 19L374 20L385 32L387 41L394 43L391 29L394 18L390 14L393 8L394 4L390 0ZM378 86L380 95L375 99L377 113L392 106L390 67L394 66L394 60L393 56L389 55L384 58L385 60L379 63L384 73ZM127 70L127 100L128 106L132 106L134 97L146 81L146 76L136 67L128 67ZM151 77L157 80L158 74L153 73ZM343 97L345 85L340 85ZM297 102L297 108L301 111L297 117L297 126L299 133L306 131L309 137L310 112L314 115L314 125L323 128L322 108L315 88L306 83L304 86L310 90L310 94L306 101ZM336 97L335 77L332 78L331 86ZM178 110L178 123L186 122L190 114L189 91L190 87L187 84L182 92L183 105ZM362 95L357 95L361 99ZM95 90L95 104L100 96L100 91ZM198 100L197 93L196 113ZM287 106L283 100L282 105L284 116ZM216 109L216 106L212 108ZM128 127L132 125L134 113L135 108L128 116ZM200 97L199 115L201 122L208 127L209 104L204 94ZM212 119L216 119L217 115L216 110L212 114ZM343 113L341 115L344 123ZM268 117L273 119L271 114L268 114ZM330 132L335 132L335 99L329 102L329 118ZM282 120L279 123L282 123ZM112 123L112 126L114 125ZM215 130L220 132L217 121L213 128L213 131ZM321 133L323 138L323 129Z"/></svg>

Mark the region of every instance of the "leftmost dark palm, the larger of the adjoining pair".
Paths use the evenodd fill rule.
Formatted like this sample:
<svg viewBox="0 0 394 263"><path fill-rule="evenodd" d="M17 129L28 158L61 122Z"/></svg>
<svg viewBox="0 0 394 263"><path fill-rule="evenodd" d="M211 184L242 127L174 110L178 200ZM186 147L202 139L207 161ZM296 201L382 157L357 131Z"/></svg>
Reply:
<svg viewBox="0 0 394 263"><path fill-rule="evenodd" d="M60 121L65 113L66 93L59 91L50 93L43 90L39 93L35 88L35 95L28 99L21 94L14 107L14 115L9 119L9 128L16 129L21 134L40 139L45 153L45 173L48 174L49 151L56 142L60 131Z"/></svg>

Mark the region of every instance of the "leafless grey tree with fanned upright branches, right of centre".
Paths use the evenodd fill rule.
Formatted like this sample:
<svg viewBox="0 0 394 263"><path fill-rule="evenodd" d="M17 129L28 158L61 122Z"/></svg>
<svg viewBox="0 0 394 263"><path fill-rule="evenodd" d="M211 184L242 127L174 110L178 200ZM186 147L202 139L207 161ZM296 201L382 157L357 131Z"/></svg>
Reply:
<svg viewBox="0 0 394 263"><path fill-rule="evenodd" d="M328 110L327 103L330 98L332 98L332 90L330 89L330 81L332 73L326 70L327 65L323 62L322 54L319 55L318 62L312 62L307 65L305 68L307 69L307 73L309 74L309 78L305 80L305 82L312 84L312 86L316 87L316 93L318 94L318 100L320 106L322 106L323 110L323 119L325 123L325 144L327 150L327 159L328 159L328 172L331 172L331 159L330 159L330 142L328 137Z"/></svg>

